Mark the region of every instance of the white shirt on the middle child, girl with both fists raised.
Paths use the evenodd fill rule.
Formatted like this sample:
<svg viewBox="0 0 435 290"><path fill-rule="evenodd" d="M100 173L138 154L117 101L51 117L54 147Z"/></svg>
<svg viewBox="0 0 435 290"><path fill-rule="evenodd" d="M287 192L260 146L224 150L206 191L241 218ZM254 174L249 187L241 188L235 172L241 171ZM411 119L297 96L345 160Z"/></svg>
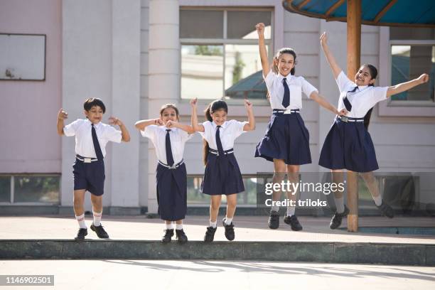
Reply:
<svg viewBox="0 0 435 290"><path fill-rule="evenodd" d="M234 147L234 140L245 133L243 131L243 127L245 127L245 124L248 122L239 122L236 120L230 120L225 121L220 126L220 143L222 143L222 149L224 151L230 150ZM203 123L204 131L199 132L201 136L205 139L205 141L208 142L208 146L210 146L211 149L218 150L218 145L216 145L216 129L218 129L218 126L215 124L215 122L205 121Z"/></svg>

